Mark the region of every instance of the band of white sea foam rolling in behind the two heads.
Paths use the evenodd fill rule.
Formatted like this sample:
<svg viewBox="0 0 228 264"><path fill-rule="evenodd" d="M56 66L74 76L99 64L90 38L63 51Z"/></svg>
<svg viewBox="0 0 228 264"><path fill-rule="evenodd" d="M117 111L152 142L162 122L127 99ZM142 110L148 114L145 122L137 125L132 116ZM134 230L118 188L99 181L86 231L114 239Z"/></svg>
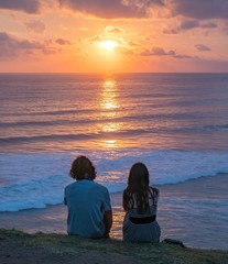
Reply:
<svg viewBox="0 0 228 264"><path fill-rule="evenodd" d="M176 184L202 176L228 173L228 154L185 151L117 151L80 153L94 162L97 182L110 193L121 191L135 162L143 162L154 185ZM64 187L73 183L68 176L75 154L4 154L0 155L0 211L44 208L62 204Z"/></svg>

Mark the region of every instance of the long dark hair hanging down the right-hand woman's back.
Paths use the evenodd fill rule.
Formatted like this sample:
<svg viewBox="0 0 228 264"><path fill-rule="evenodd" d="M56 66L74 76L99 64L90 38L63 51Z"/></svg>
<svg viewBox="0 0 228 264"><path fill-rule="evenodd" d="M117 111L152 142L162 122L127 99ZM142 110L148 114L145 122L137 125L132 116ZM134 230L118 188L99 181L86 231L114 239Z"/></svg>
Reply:
<svg viewBox="0 0 228 264"><path fill-rule="evenodd" d="M123 191L123 209L137 208L138 213L145 213L149 209L149 199L156 205L159 189L149 186L149 172L143 163L135 163L130 169L128 187Z"/></svg>

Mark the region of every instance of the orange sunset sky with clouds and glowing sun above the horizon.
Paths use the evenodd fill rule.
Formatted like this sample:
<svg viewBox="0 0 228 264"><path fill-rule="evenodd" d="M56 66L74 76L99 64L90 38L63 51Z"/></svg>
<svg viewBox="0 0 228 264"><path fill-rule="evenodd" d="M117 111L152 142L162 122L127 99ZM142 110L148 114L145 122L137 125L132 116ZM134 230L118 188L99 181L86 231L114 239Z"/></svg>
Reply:
<svg viewBox="0 0 228 264"><path fill-rule="evenodd" d="M228 0L0 0L0 73L228 73Z"/></svg>

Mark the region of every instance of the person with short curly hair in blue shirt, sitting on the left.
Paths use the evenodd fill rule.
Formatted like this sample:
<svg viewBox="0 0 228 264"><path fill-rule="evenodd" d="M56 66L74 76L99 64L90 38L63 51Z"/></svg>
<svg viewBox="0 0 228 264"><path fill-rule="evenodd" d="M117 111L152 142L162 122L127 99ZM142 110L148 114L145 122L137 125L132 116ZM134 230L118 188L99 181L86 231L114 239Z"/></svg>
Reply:
<svg viewBox="0 0 228 264"><path fill-rule="evenodd" d="M112 224L108 189L94 182L96 170L86 156L78 156L69 172L75 183L65 188L67 232L85 238L108 238Z"/></svg>

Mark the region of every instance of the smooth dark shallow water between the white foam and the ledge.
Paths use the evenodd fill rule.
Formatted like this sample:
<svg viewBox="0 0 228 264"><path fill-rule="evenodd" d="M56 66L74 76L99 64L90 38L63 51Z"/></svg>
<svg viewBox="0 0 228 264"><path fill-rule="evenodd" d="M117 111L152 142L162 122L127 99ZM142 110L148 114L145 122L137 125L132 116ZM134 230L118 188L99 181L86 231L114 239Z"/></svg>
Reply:
<svg viewBox="0 0 228 264"><path fill-rule="evenodd" d="M186 246L227 250L228 174L200 177L175 185L158 186L158 222L165 238L181 240ZM122 240L121 193L111 194L113 226L110 237ZM208 217L210 216L210 217ZM64 205L18 212L0 212L0 228L29 233L66 233L67 209Z"/></svg>

